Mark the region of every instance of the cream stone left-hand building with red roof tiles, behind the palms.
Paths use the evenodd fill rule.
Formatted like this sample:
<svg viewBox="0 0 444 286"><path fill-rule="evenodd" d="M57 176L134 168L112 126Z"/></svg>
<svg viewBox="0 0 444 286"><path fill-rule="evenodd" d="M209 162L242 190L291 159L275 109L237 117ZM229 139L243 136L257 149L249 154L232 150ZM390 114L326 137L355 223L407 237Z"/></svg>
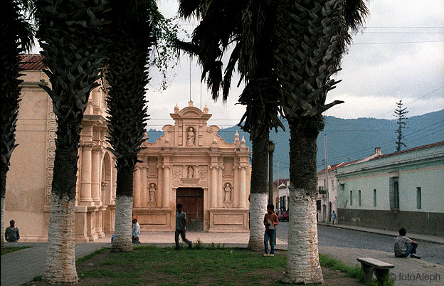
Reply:
<svg viewBox="0 0 444 286"><path fill-rule="evenodd" d="M6 180L5 221L16 221L20 241L48 238L56 115L43 73L43 56L21 55L21 101L16 143ZM75 197L75 240L88 242L113 233L115 225L115 157L105 141L105 93L93 90L83 117ZM7 224L7 223L6 223Z"/></svg>

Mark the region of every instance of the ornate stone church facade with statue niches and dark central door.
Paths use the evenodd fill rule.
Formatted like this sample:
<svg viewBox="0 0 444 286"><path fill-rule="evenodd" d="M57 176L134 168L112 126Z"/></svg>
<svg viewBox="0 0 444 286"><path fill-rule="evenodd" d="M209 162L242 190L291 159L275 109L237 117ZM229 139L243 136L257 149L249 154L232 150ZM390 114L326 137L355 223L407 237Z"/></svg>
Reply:
<svg viewBox="0 0 444 286"><path fill-rule="evenodd" d="M176 203L187 216L187 229L248 231L250 151L233 133L233 143L207 125L208 107L189 106L171 113L157 142L144 142L134 173L133 214L142 231L174 231Z"/></svg>

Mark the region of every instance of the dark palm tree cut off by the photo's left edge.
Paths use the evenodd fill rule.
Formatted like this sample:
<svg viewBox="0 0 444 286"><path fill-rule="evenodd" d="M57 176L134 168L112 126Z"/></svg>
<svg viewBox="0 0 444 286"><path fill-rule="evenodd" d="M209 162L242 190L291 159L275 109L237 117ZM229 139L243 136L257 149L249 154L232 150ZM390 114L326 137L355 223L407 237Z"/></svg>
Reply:
<svg viewBox="0 0 444 286"><path fill-rule="evenodd" d="M33 26L26 21L26 16L33 11L32 1L1 1L4 17L0 19L0 101L1 112L1 249L4 248L4 213L6 198L6 174L9 171L11 154L17 147L16 122L18 102L20 101L21 75L19 53L29 51L33 44Z"/></svg>

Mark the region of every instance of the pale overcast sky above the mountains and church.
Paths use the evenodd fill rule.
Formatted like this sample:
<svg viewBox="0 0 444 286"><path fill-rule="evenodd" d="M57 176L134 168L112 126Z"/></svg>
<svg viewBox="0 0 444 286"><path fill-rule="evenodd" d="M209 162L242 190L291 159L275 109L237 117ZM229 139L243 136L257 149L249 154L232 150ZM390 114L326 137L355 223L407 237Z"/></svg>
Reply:
<svg viewBox="0 0 444 286"><path fill-rule="evenodd" d="M364 29L342 59L342 80L329 92L327 102L344 100L327 115L341 118L376 117L393 119L395 102L403 100L409 116L422 115L444 108L444 5L441 0L369 1L370 16ZM176 16L176 0L160 0L164 16ZM182 23L191 34L193 23ZM181 56L174 70L169 70L168 88L161 90L161 76L150 71L152 81L147 90L148 128L160 129L171 124L169 113L174 105L188 105L190 97L190 58ZM245 107L235 105L243 85L236 88L233 79L228 102L213 102L200 83L200 68L191 60L191 99L194 106L208 104L213 114L211 124L233 126ZM202 100L201 100L202 98Z"/></svg>

